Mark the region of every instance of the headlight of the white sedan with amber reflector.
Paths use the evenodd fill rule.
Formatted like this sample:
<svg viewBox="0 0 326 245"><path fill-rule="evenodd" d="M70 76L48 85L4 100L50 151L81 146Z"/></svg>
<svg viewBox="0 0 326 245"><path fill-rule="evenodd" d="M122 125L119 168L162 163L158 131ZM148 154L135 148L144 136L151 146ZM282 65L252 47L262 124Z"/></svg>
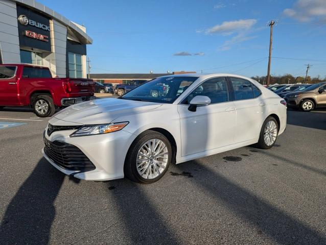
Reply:
<svg viewBox="0 0 326 245"><path fill-rule="evenodd" d="M129 121L124 121L116 122L114 124L83 126L80 129L76 130L74 133L72 133L70 137L112 133L115 131L122 130L128 124Z"/></svg>

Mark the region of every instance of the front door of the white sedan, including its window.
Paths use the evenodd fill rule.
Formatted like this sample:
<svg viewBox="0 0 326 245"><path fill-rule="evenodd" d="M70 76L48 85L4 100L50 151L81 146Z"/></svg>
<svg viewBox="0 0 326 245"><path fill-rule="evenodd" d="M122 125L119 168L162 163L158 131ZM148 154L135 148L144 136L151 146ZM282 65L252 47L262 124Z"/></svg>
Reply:
<svg viewBox="0 0 326 245"><path fill-rule="evenodd" d="M189 110L196 95L211 99L211 104ZM178 105L181 130L181 155L187 156L234 143L236 111L230 101L227 79L204 81Z"/></svg>

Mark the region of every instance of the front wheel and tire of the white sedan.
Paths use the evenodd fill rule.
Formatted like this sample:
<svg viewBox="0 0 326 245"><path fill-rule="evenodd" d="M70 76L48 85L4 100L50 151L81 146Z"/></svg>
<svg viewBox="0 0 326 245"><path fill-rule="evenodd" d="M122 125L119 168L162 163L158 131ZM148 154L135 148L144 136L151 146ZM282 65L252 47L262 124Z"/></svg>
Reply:
<svg viewBox="0 0 326 245"><path fill-rule="evenodd" d="M146 150L153 149L153 145L156 146L156 152L155 150L153 152ZM148 148L148 146L150 147ZM160 149L162 150L159 151ZM171 159L172 147L167 137L156 131L147 130L138 135L131 144L125 160L124 173L128 179L134 182L154 183L165 175Z"/></svg>

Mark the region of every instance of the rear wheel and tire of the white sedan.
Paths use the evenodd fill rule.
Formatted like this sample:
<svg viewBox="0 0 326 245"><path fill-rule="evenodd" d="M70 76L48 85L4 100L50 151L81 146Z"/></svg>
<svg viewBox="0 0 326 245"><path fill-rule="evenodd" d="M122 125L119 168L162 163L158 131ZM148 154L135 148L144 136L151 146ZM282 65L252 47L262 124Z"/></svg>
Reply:
<svg viewBox="0 0 326 245"><path fill-rule="evenodd" d="M274 117L268 116L264 121L259 135L259 141L255 145L260 149L270 149L276 142L279 126Z"/></svg>

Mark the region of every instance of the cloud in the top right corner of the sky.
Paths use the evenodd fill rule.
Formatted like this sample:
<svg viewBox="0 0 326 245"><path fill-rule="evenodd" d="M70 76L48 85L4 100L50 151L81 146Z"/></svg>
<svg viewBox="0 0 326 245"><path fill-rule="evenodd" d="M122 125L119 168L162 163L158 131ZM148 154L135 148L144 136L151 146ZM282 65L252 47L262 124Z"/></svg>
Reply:
<svg viewBox="0 0 326 245"><path fill-rule="evenodd" d="M285 9L283 14L299 21L311 21L326 17L325 0L297 0L290 9Z"/></svg>

